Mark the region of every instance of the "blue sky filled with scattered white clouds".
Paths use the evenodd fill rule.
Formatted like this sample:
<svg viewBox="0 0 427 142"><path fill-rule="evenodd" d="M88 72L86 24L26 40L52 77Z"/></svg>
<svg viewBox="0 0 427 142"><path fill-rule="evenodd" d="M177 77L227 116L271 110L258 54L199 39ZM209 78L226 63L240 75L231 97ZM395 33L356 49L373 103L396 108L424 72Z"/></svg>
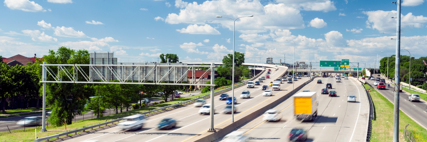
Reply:
<svg viewBox="0 0 427 142"><path fill-rule="evenodd" d="M395 0L4 0L0 55L45 55L67 46L111 51L119 62L219 62L235 50L246 62L351 59L372 61L395 52ZM426 56L425 0L403 0L402 48ZM310 48L308 54L307 47ZM320 52L320 53L319 53ZM406 55L407 52L402 52Z"/></svg>

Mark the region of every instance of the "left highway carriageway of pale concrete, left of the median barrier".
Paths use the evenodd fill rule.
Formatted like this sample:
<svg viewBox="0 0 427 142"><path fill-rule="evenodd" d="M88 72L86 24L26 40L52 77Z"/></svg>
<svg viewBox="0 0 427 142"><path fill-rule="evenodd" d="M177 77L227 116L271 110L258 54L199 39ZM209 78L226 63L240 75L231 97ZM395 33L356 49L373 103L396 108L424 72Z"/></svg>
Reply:
<svg viewBox="0 0 427 142"><path fill-rule="evenodd" d="M274 80L275 78L279 78L283 72L285 72L285 67L280 67L277 71L272 71L272 78L264 80L261 85L257 85L255 88L246 88L239 87L235 88L235 96L238 98L240 93L243 90L249 90L251 92L250 99L237 99L237 113L235 116L241 115L246 112L246 110L252 109L256 105L260 105L263 101L266 101L274 96L263 97L261 94L263 90L261 87L263 84L268 84L269 81ZM263 75L262 75L263 76ZM296 81L295 84L303 84L307 81L308 78L302 78L299 81ZM281 85L281 91L287 87L291 87L292 84L284 84ZM281 91L275 91L273 94L276 95ZM231 94L231 91L227 92ZM221 113L222 109L225 107L225 101L219 101L219 96L216 96L215 99L215 119L214 125L215 128L219 127L218 125L222 125L224 122L231 121L230 114ZM210 101L208 99L207 101ZM208 102L209 103L209 102ZM64 139L64 141L73 141L80 142L89 139L97 139L100 142L128 142L128 141L184 141L186 139L194 138L200 134L206 133L209 128L209 116L208 115L200 115L198 113L199 107L193 107L193 105L188 105L184 107L180 107L178 109L164 112L155 116L150 116L148 122L145 123L143 129L130 132L130 131L122 131L118 128L108 128L105 130L99 130L96 132L84 134L82 136L76 136L73 139ZM158 130L156 125L163 118L174 118L178 120L178 125L176 128L171 130Z"/></svg>

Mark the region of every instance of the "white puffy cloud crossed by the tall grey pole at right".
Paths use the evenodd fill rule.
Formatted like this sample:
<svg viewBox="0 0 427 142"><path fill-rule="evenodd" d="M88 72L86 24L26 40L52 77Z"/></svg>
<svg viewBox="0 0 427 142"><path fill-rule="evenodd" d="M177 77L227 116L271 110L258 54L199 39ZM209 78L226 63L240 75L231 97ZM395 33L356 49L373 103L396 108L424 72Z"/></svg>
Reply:
<svg viewBox="0 0 427 142"><path fill-rule="evenodd" d="M369 11L363 12L368 15L366 20L366 27L370 29L377 29L380 33L395 34L396 33L396 11ZM401 14L401 26L410 28L422 28L424 23L427 23L427 17L423 15L414 16L411 12L406 15Z"/></svg>

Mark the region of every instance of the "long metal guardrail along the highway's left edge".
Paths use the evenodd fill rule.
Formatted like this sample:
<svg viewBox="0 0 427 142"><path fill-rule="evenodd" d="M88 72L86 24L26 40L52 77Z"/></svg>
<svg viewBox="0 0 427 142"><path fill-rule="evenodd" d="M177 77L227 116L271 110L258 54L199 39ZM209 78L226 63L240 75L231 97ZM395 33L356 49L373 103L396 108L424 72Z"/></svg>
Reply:
<svg viewBox="0 0 427 142"><path fill-rule="evenodd" d="M253 78L251 78L251 79L249 79L249 80L247 80L247 81L245 81L245 82L243 82L243 83L241 83L241 84L237 84L237 85L235 85L234 87L235 87L235 88L237 88L237 87L241 87L241 86L243 86L243 85L246 85L246 83L247 83L248 81L253 81L254 79L258 78L260 75L262 75L262 74L263 74L263 72L265 72L265 70L261 71L260 73L258 73L258 75L255 75ZM227 91L229 91L229 90L231 90L231 89L232 89L231 87L228 87L228 88L225 88L225 89L223 89L223 90L216 91L216 92L214 93L214 96L219 95L219 94L222 94L222 93L224 93L224 92L227 92ZM210 96L211 96L211 94L208 94L208 95L201 96L201 97L198 97L198 98L195 98L195 99L191 99L191 100L188 100L188 101L183 101L183 102L180 102L180 103L177 103L177 104L168 105L168 106L166 106L166 107L160 107L160 108L158 108L158 109L150 110L150 111L143 112L143 113L140 113L140 114L155 113L155 112L157 112L157 111L165 110L165 109L167 109L167 108L175 107L175 106L178 106L178 105L181 105L181 104L192 103L192 101L196 101L196 100L198 100L198 99L208 99ZM96 127L100 128L102 125L107 126L107 125L108 125L108 124L110 124L110 123L118 122L118 121L120 121L120 120L122 120L122 119L123 119L123 118L119 118L119 119L111 120L111 121L108 121L108 122L99 123L99 124L97 124L97 125L91 125L91 126L83 127L83 128L76 129L76 130L70 130L70 131L67 131L67 132L64 132L64 133L58 133L58 134L56 134L56 135L52 135L52 136L45 136L45 137L42 137L42 138L34 139L34 142L40 142L40 141L44 141L44 140L49 141L49 139L53 139L53 138L57 138L57 139L59 139L59 136L65 136L65 135L67 135L67 136L68 136L69 134L72 134L72 133L77 134L77 132L80 132L80 131L85 132L85 130L88 130L88 129L91 129L91 130L92 130L93 128L96 128Z"/></svg>

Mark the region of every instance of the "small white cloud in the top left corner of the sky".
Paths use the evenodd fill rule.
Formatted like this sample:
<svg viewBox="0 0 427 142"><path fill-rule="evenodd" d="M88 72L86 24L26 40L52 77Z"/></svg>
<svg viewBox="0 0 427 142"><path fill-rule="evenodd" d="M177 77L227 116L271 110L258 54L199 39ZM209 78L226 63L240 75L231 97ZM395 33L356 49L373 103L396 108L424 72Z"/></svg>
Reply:
<svg viewBox="0 0 427 142"><path fill-rule="evenodd" d="M4 0L3 3L5 6L7 6L9 9L12 9L12 10L18 9L24 12L41 12L41 11L45 12L46 11L39 4L29 0Z"/></svg>

